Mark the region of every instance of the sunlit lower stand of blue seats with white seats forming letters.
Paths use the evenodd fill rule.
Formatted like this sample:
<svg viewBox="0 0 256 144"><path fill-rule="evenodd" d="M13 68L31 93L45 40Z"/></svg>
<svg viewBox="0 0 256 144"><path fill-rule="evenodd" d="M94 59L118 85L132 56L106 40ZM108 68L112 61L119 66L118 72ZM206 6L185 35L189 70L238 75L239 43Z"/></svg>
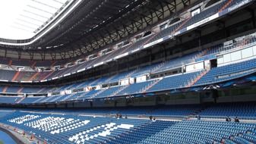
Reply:
<svg viewBox="0 0 256 144"><path fill-rule="evenodd" d="M2 111L0 111L1 114ZM49 143L254 143L256 124L226 121L150 121L15 111L0 122ZM24 117L26 121L21 121ZM32 118L31 118L32 117ZM18 121L17 121L18 120Z"/></svg>

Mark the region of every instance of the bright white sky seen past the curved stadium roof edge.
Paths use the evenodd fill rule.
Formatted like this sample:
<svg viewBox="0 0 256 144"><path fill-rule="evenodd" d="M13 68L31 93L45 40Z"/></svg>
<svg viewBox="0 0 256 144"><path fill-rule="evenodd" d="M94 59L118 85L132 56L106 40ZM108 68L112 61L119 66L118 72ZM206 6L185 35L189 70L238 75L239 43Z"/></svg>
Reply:
<svg viewBox="0 0 256 144"><path fill-rule="evenodd" d="M66 0L0 0L0 38L30 39Z"/></svg>

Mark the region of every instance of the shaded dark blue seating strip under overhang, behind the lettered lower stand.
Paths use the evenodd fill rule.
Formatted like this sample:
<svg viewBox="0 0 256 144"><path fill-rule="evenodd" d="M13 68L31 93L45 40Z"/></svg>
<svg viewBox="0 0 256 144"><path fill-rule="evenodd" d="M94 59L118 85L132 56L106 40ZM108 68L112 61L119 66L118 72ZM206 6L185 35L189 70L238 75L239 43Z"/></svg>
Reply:
<svg viewBox="0 0 256 144"><path fill-rule="evenodd" d="M15 99L15 98L14 98ZM13 100L14 100L13 99ZM1 99L5 102L9 100ZM41 98L24 99L26 102L43 101ZM52 102L55 102L52 99ZM22 102L21 102L22 103ZM27 110L29 111L29 109ZM52 110L52 112L62 112L61 110ZM68 111L72 114L123 114L123 115L145 115L157 117L187 117L189 115L200 115L206 118L225 118L239 117L242 119L255 119L256 114L255 103L232 103L232 104L215 104L215 105L163 105L155 107L131 107L131 108L88 108L76 111Z"/></svg>

